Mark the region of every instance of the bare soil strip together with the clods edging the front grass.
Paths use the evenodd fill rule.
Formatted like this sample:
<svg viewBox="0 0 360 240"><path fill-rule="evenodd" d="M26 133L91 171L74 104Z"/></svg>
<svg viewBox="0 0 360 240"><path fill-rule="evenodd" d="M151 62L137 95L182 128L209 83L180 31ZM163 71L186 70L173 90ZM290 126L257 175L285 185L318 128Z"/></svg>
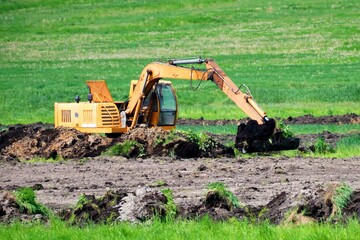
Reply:
<svg viewBox="0 0 360 240"><path fill-rule="evenodd" d="M161 195L154 195L154 191L164 187L173 191L174 201L180 209L179 217L182 218L209 214L214 219L270 219L273 223L281 223L286 220L286 213L296 208L306 208L308 214L303 218L323 221L332 211L332 206L322 200L325 199L323 196L328 191L329 183L347 183L353 189L360 189L359 161L359 157L187 160L169 157L138 160L96 157L85 162L3 162L0 190L5 192L18 187L41 186L37 190L40 203L56 212L69 209L67 216L74 213L80 224L85 210L91 213L92 220L98 222L114 218L119 221L144 221L153 214L153 210L149 209L155 208L165 214L165 200ZM239 198L243 208L231 208L227 201L216 194L207 195L206 186L211 182L227 185ZM109 194L104 197L109 190L117 195L122 194L122 197L115 201L115 197ZM90 199L99 207L90 204L75 211L74 206L83 193L91 195ZM148 193L149 196L145 197ZM95 199L98 198L102 200L97 202ZM155 202L158 204L154 205ZM116 211L109 211L108 207L114 207L114 204L118 206L114 209ZM359 206L359 194L356 192L344 214L359 216ZM295 216L301 217L299 213L295 212L293 218L287 221L294 222Z"/></svg>

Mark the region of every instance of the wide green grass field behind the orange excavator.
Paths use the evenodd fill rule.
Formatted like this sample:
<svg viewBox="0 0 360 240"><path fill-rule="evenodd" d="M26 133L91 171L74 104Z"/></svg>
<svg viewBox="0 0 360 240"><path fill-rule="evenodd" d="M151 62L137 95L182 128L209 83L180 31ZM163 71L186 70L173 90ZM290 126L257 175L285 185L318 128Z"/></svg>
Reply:
<svg viewBox="0 0 360 240"><path fill-rule="evenodd" d="M359 114L359 9L356 0L1 1L0 123L52 123L53 103L85 99L89 79L124 100L147 63L197 56L247 84L270 117ZM180 117L245 117L211 82L174 85Z"/></svg>

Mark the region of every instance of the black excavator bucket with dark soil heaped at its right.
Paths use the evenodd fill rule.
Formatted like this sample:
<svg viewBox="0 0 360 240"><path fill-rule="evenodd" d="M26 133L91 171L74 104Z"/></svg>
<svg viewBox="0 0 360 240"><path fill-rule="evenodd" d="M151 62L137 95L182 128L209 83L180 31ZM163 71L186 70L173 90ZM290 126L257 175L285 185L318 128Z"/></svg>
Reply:
<svg viewBox="0 0 360 240"><path fill-rule="evenodd" d="M299 144L299 138L284 137L283 132L276 129L274 119L260 125L255 120L240 124L235 140L236 148L243 153L292 150Z"/></svg>

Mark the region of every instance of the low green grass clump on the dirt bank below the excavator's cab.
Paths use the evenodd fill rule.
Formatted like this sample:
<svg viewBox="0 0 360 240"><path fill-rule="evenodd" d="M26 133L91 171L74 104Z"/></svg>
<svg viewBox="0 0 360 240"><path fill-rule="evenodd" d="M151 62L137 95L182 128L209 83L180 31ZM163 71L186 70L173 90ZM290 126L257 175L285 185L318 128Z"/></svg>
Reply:
<svg viewBox="0 0 360 240"><path fill-rule="evenodd" d="M145 148L136 141L126 140L108 148L103 154L109 156L123 156L127 158L141 157L145 155Z"/></svg>

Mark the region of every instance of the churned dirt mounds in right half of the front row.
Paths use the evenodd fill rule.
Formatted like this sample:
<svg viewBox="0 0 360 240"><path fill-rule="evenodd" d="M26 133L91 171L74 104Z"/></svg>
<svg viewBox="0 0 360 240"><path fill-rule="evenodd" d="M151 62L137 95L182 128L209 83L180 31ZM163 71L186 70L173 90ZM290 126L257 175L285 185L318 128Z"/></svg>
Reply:
<svg viewBox="0 0 360 240"><path fill-rule="evenodd" d="M200 203L188 208L182 208L182 218L197 218L210 216L214 220L226 220L232 217L250 219L257 222L269 220L273 224L304 224L309 222L324 222L334 219L360 219L360 192L356 191L339 214L339 210L332 202L338 184L330 184L326 189L317 189L315 192L299 193L281 192L275 195L264 206L241 206L231 208L227 199L210 192Z"/></svg>

